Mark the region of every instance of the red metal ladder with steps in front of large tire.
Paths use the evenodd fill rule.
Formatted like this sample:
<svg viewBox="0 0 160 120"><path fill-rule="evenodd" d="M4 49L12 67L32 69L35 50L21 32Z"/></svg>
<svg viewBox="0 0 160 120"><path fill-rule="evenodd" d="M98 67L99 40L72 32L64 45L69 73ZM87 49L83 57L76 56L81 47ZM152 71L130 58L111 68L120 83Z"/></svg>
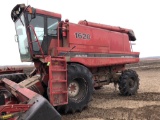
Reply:
<svg viewBox="0 0 160 120"><path fill-rule="evenodd" d="M68 104L67 63L64 57L49 61L49 99L53 106Z"/></svg>

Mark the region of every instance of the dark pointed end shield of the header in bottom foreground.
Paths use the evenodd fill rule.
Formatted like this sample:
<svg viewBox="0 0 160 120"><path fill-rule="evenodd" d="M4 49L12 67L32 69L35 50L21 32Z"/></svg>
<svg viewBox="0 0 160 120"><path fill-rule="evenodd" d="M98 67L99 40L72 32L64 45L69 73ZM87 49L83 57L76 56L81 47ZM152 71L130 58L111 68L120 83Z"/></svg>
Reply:
<svg viewBox="0 0 160 120"><path fill-rule="evenodd" d="M33 105L18 120L61 120L61 115L41 95L34 97L28 104Z"/></svg>

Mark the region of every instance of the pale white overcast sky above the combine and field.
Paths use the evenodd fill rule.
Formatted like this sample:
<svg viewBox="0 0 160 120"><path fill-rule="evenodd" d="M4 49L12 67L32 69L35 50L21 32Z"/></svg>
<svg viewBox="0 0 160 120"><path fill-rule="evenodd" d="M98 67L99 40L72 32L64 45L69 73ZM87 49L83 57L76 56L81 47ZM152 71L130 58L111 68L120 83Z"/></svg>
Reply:
<svg viewBox="0 0 160 120"><path fill-rule="evenodd" d="M21 64L18 44L14 41L15 27L11 10L27 0L5 0L0 11L0 65ZM62 14L70 22L88 20L133 29L136 35L134 51L140 57L160 56L159 0L28 0L29 5Z"/></svg>

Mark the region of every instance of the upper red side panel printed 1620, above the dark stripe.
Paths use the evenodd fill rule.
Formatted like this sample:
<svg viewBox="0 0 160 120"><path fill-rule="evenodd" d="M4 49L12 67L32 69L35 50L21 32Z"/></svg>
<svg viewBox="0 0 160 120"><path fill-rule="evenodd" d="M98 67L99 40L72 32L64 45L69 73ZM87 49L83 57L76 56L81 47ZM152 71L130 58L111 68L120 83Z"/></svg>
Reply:
<svg viewBox="0 0 160 120"><path fill-rule="evenodd" d="M75 38L76 32L90 34L90 40ZM117 51L117 53L131 52L127 34L77 24L69 24L69 43L73 45L98 46L106 49L105 53L112 51Z"/></svg>

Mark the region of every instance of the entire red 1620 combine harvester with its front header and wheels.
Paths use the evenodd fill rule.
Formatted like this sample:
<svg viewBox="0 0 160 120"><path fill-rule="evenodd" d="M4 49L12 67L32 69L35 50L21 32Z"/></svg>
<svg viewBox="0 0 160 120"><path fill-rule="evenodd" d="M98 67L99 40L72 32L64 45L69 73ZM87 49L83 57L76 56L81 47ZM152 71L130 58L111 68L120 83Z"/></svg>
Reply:
<svg viewBox="0 0 160 120"><path fill-rule="evenodd" d="M120 93L137 93L139 78L126 64L139 62L131 29L79 21L24 4L16 5L15 23L22 62L34 62L30 77L0 82L0 119L59 120L58 112L82 111L95 88L117 83ZM58 112L57 112L58 111Z"/></svg>

